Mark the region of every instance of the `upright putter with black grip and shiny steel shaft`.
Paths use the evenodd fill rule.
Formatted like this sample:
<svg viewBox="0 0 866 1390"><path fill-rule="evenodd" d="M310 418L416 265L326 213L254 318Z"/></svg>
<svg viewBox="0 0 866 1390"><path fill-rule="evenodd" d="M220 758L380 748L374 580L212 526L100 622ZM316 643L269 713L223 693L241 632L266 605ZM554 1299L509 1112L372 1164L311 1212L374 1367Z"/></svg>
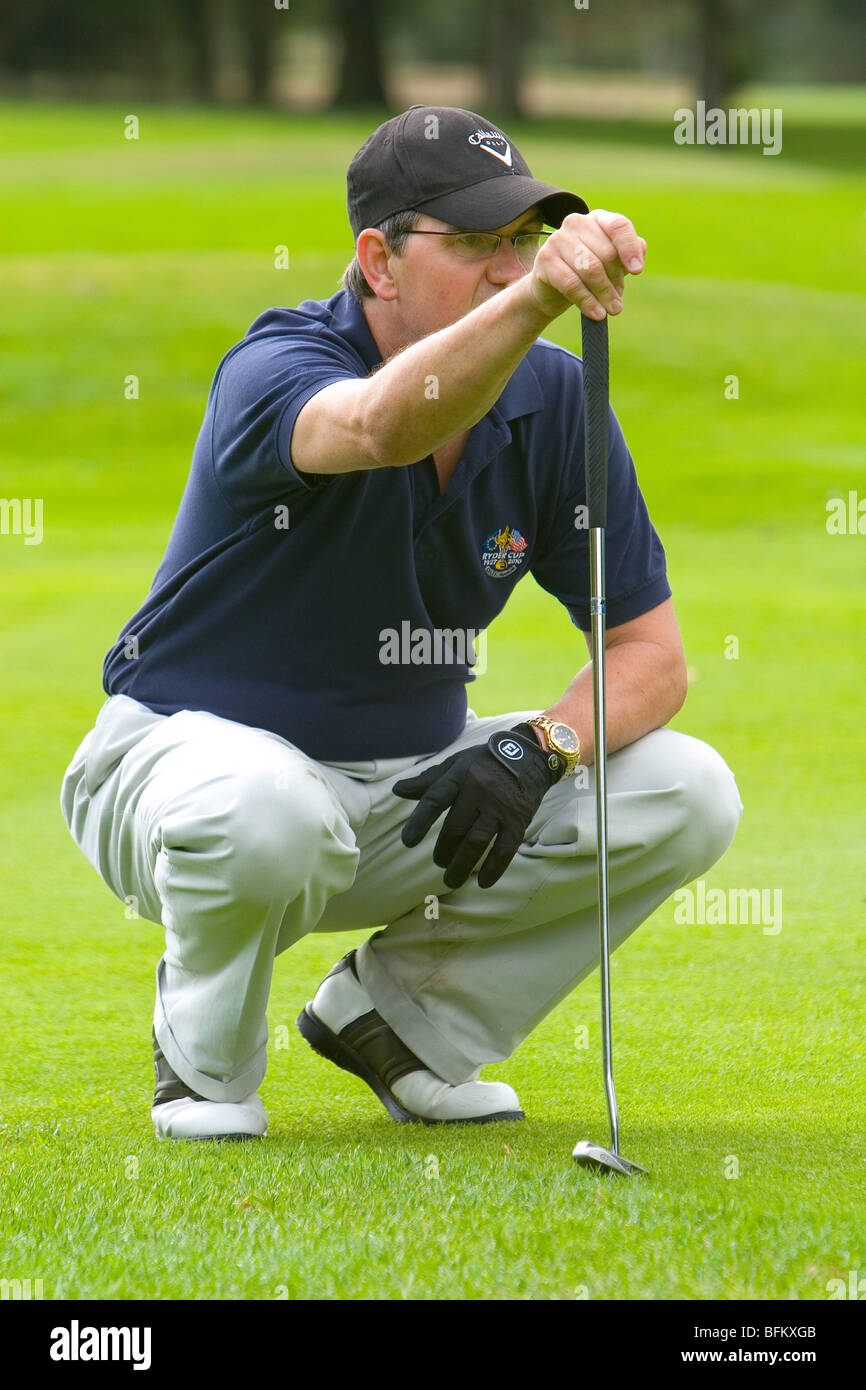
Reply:
<svg viewBox="0 0 866 1390"><path fill-rule="evenodd" d="M592 620L592 713L595 731L595 824L598 838L599 970L602 979L602 1061L610 1119L610 1148L578 1140L573 1158L601 1172L645 1173L620 1154L620 1122L610 1045L610 937L607 929L607 730L605 721L605 527L607 524L607 318L581 316L584 354L584 450L589 527L589 613Z"/></svg>

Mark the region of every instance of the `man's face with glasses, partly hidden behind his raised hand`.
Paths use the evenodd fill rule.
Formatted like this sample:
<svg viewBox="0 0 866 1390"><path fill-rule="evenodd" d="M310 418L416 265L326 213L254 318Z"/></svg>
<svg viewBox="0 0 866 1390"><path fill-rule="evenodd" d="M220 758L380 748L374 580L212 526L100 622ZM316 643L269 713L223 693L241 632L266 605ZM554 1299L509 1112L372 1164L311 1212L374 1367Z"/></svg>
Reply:
<svg viewBox="0 0 866 1390"><path fill-rule="evenodd" d="M395 307L407 342L416 342L456 322L500 289L527 274L509 236L516 232L539 232L542 217L537 207L521 213L505 227L491 227L502 234L499 250L485 260L463 260L450 236L416 236L406 239L402 256L392 256L389 270L398 286ZM460 232L463 228L424 213L417 232Z"/></svg>

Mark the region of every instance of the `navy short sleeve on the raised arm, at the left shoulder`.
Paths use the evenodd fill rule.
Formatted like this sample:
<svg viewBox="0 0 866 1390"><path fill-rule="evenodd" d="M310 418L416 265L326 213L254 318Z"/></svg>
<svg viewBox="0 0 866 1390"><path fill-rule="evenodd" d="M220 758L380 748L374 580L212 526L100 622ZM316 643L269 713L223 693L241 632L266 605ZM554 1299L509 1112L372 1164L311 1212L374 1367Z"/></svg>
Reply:
<svg viewBox="0 0 866 1390"><path fill-rule="evenodd" d="M295 421L325 386L361 375L363 364L350 349L314 332L265 336L231 353L211 398L214 475L227 502L253 513L329 486L338 474L295 467Z"/></svg>

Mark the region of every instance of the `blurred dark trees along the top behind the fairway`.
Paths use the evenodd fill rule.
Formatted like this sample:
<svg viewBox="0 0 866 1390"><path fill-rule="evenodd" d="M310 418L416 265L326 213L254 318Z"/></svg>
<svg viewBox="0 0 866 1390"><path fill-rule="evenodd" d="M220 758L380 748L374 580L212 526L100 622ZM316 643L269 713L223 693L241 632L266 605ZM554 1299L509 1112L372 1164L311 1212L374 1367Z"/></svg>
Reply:
<svg viewBox="0 0 866 1390"><path fill-rule="evenodd" d="M4 97L399 110L442 92L505 120L569 114L575 70L670 78L708 106L758 81L860 82L866 6L28 0L0 14Z"/></svg>

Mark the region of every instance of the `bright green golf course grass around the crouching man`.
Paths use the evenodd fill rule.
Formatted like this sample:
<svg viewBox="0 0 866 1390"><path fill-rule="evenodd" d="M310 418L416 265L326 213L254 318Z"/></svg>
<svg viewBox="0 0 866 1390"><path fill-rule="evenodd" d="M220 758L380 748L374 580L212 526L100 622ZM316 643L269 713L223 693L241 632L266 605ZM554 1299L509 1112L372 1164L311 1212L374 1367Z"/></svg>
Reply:
<svg viewBox="0 0 866 1390"><path fill-rule="evenodd" d="M719 748L745 802L708 883L783 891L777 935L683 926L670 901L617 952L623 1148L651 1169L632 1184L570 1159L606 1134L595 977L485 1072L523 1125L398 1127L293 1027L356 933L277 962L268 1138L153 1137L160 933L78 853L58 785L220 356L268 304L335 288L366 125L142 110L132 145L121 107L0 108L0 495L44 499L40 546L0 537L1 1276L49 1298L809 1300L866 1269L866 537L824 527L830 496L866 492L863 129L862 108L806 124L798 103L773 160L652 125L514 132L649 242L612 391L692 669L674 727ZM578 348L577 321L549 336ZM584 660L523 584L471 703L541 708Z"/></svg>

